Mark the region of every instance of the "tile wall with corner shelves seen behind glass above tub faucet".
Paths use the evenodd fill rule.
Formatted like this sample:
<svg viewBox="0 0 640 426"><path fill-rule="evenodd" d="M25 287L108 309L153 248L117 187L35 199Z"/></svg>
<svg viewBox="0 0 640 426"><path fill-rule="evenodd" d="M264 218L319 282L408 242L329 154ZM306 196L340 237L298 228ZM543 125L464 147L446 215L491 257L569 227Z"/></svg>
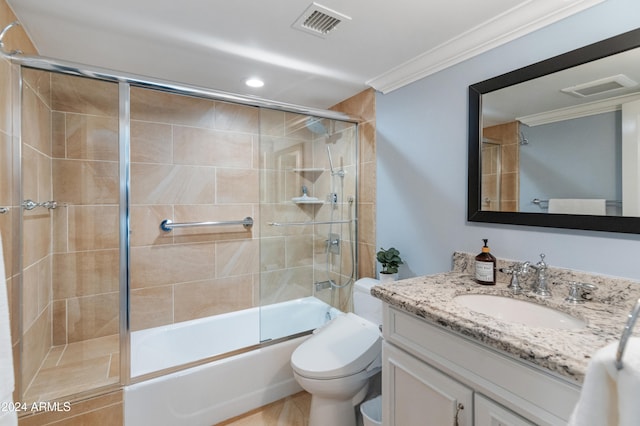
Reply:
<svg viewBox="0 0 640 426"><path fill-rule="evenodd" d="M328 134L314 134L306 123L305 115L261 112L260 290L264 304L311 295L339 304L339 300L332 300L329 290L314 292L313 283L328 279L346 283L354 267L348 225L268 225L271 222L346 220L349 209L355 217L355 206L348 201L356 195L355 125L320 120ZM343 179L331 176L327 147L331 150L335 170L346 172ZM318 199L318 204L292 202L292 198L302 194L303 186L310 197ZM330 192L338 195L335 206L326 202ZM341 236L341 255L327 258L329 232Z"/></svg>

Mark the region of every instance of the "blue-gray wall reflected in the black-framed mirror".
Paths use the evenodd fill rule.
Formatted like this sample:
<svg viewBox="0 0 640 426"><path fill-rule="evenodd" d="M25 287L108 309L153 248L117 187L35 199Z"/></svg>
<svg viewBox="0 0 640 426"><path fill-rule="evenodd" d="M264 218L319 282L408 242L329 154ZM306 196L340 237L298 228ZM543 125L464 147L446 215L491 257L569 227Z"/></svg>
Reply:
<svg viewBox="0 0 640 426"><path fill-rule="evenodd" d="M640 65L638 65L640 66ZM520 126L520 211L534 198L622 199L622 112Z"/></svg>

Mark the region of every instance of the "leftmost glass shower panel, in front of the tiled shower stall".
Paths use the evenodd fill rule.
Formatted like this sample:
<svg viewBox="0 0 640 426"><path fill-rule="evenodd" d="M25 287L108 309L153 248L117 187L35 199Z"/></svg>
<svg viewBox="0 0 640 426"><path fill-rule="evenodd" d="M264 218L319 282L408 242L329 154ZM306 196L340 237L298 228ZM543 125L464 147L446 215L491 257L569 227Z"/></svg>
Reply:
<svg viewBox="0 0 640 426"><path fill-rule="evenodd" d="M119 383L118 86L22 69L25 402Z"/></svg>

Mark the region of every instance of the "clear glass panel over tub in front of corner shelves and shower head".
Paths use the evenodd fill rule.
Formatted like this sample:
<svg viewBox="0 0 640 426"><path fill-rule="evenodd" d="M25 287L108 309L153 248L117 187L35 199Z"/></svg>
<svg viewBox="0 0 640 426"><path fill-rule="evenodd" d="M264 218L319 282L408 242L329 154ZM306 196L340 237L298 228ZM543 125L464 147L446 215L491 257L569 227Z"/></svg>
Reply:
<svg viewBox="0 0 640 426"><path fill-rule="evenodd" d="M262 110L261 341L346 311L357 271L357 126Z"/></svg>

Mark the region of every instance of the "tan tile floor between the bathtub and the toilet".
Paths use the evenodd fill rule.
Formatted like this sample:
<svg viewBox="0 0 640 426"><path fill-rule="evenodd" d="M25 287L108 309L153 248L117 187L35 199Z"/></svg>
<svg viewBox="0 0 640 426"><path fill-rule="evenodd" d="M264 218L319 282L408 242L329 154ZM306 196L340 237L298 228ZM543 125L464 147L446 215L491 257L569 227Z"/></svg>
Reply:
<svg viewBox="0 0 640 426"><path fill-rule="evenodd" d="M215 426L307 426L311 395L300 392Z"/></svg>

